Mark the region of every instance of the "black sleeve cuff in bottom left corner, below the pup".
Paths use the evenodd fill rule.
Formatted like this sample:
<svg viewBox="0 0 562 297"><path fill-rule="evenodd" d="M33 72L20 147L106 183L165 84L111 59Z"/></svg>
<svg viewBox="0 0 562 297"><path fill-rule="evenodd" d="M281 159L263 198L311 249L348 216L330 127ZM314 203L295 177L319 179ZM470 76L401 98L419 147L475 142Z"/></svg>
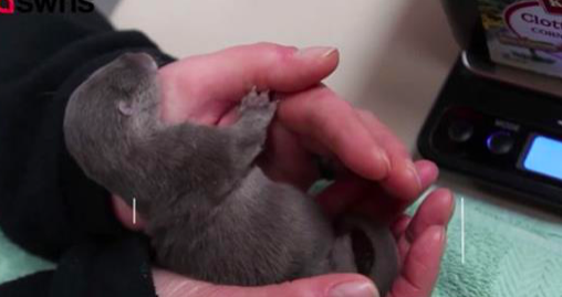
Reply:
<svg viewBox="0 0 562 297"><path fill-rule="evenodd" d="M74 245L56 271L39 272L0 285L2 297L155 297L144 243L135 236Z"/></svg>

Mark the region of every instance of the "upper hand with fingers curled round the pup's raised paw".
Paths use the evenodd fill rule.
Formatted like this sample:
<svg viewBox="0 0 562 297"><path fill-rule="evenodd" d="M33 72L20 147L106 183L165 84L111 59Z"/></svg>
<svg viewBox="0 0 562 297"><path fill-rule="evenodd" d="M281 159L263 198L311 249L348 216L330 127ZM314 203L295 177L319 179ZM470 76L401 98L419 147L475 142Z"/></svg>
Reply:
<svg viewBox="0 0 562 297"><path fill-rule="evenodd" d="M407 205L424 182L435 180L437 169L427 161L414 163L372 114L320 85L337 64L335 49L271 43L187 57L159 71L162 118L168 124L229 125L247 93L271 89L281 103L262 160L268 176L308 189L318 179L312 155L335 157L356 177L379 181Z"/></svg>

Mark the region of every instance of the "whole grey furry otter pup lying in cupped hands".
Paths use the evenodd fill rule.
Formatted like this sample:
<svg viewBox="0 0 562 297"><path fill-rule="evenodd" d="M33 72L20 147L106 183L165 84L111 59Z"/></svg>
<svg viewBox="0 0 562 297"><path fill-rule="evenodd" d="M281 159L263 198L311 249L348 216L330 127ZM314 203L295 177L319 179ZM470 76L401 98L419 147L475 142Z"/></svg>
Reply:
<svg viewBox="0 0 562 297"><path fill-rule="evenodd" d="M254 165L277 103L242 99L230 127L160 120L157 65L124 54L71 96L69 151L92 180L133 198L156 262L228 285L267 285L333 272L363 273L382 294L397 275L387 227L347 218L333 226L313 199Z"/></svg>

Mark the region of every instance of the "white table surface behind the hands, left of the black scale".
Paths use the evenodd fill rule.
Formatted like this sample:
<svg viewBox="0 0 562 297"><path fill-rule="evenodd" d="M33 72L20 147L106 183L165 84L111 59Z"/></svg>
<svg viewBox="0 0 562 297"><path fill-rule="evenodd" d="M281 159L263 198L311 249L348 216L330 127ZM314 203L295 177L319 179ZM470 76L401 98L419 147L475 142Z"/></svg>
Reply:
<svg viewBox="0 0 562 297"><path fill-rule="evenodd" d="M459 51L437 0L125 0L112 21L177 57L259 41L336 46L341 65L326 83L377 115L413 152ZM562 223L451 172L438 184Z"/></svg>

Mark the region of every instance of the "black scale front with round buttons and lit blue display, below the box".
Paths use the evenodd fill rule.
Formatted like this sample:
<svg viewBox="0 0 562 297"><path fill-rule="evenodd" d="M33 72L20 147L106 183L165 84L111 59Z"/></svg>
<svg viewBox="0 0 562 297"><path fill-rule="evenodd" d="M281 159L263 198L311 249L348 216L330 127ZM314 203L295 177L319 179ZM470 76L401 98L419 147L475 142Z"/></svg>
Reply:
<svg viewBox="0 0 562 297"><path fill-rule="evenodd" d="M464 61L422 129L420 153L562 208L562 98L482 78Z"/></svg>

